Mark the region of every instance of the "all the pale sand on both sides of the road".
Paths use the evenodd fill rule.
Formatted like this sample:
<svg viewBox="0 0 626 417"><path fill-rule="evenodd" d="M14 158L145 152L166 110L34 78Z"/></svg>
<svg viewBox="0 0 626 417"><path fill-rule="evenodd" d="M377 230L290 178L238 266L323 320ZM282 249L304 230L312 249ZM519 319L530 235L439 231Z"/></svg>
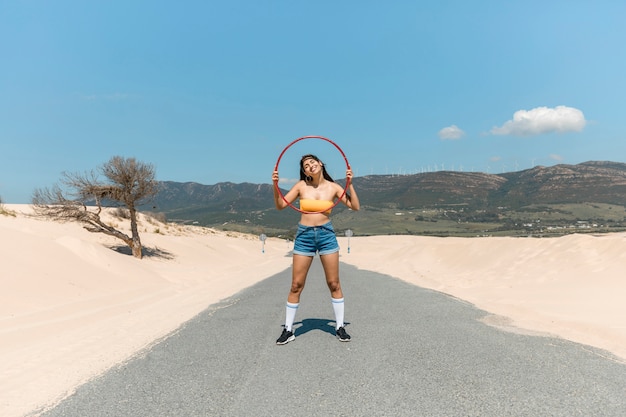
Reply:
<svg viewBox="0 0 626 417"><path fill-rule="evenodd" d="M141 219L142 260L74 223L0 215L0 415L50 406L202 310L289 268L286 241ZM110 218L127 230L127 221ZM626 359L626 235L553 239L352 237L342 262L484 309L489 324ZM288 285L288 283L286 283ZM285 292L288 287L285 287ZM349 296L349 294L346 294ZM286 293L285 293L286 296ZM416 318L419 319L419 318Z"/></svg>

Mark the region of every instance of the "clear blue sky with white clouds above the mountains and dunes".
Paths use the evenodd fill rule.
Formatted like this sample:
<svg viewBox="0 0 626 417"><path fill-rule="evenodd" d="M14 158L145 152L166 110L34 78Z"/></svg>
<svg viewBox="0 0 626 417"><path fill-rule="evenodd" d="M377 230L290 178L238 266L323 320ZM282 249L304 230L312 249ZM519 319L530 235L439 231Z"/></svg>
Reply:
<svg viewBox="0 0 626 417"><path fill-rule="evenodd" d="M626 2L0 2L0 198L112 156L270 183L626 161ZM303 140L334 177L332 144ZM343 164L343 165L342 165Z"/></svg>

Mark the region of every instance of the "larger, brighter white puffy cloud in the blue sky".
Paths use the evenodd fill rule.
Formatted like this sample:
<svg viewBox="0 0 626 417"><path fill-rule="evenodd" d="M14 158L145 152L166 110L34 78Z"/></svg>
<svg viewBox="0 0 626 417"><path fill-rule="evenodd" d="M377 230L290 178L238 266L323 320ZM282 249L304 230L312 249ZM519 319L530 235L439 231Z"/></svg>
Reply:
<svg viewBox="0 0 626 417"><path fill-rule="evenodd" d="M587 121L582 111L573 107L536 107L518 110L501 127L494 127L494 135L532 136L551 132L580 132Z"/></svg>

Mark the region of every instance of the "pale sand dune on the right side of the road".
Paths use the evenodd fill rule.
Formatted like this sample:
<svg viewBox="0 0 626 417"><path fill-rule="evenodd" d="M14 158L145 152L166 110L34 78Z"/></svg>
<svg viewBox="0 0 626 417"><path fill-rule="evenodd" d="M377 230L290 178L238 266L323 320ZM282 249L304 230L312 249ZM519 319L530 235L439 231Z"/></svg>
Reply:
<svg viewBox="0 0 626 417"><path fill-rule="evenodd" d="M559 336L626 359L624 234L379 236L352 238L351 246L343 262L469 301L494 315L489 324Z"/></svg>

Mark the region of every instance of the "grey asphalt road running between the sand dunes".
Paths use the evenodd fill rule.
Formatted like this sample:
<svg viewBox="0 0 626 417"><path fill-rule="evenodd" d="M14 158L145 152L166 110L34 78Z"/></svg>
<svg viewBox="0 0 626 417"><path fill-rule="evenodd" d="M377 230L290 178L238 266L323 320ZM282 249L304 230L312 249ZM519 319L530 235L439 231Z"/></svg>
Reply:
<svg viewBox="0 0 626 417"><path fill-rule="evenodd" d="M626 416L626 366L505 332L463 301L341 264L349 343L316 258L277 346L291 271L187 322L46 417Z"/></svg>

